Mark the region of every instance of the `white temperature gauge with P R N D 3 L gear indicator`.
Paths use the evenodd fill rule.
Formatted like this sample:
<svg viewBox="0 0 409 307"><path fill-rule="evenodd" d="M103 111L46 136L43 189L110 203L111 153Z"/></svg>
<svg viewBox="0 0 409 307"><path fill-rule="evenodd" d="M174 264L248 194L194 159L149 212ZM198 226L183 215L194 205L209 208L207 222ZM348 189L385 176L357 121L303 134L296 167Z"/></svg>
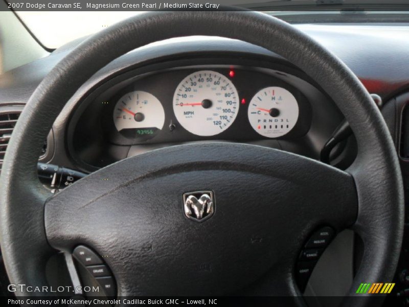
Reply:
<svg viewBox="0 0 409 307"><path fill-rule="evenodd" d="M259 91L248 106L248 121L253 129L267 138L287 134L297 123L298 103L286 89L278 86Z"/></svg>

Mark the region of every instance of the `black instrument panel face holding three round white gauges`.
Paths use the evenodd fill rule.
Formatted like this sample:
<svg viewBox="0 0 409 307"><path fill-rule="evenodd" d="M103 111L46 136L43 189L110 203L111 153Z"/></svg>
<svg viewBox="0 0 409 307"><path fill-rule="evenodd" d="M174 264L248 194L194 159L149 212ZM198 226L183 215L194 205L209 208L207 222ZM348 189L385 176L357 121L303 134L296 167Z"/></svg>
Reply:
<svg viewBox="0 0 409 307"><path fill-rule="evenodd" d="M104 129L119 145L298 136L310 117L296 87L244 68L167 71L109 95L97 101L113 106L104 108Z"/></svg>

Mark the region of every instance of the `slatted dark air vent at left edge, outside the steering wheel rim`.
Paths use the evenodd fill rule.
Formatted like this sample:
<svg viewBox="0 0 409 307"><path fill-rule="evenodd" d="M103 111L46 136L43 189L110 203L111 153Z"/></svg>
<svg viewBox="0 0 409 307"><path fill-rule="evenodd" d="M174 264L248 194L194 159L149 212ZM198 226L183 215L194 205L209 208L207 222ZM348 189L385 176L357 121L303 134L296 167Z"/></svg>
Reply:
<svg viewBox="0 0 409 307"><path fill-rule="evenodd" d="M9 144L11 133L20 116L20 107L0 108L0 170L3 165L4 155Z"/></svg>

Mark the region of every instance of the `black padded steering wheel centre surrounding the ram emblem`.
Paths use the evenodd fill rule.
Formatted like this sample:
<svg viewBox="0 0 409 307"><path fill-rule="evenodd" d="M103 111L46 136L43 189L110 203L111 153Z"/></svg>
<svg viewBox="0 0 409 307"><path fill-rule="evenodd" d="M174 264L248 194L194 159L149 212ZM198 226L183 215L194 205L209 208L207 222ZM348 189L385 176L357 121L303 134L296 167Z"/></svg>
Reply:
<svg viewBox="0 0 409 307"><path fill-rule="evenodd" d="M213 190L215 214L197 223L186 218L182 196L203 188ZM85 242L107 255L117 282L134 285L122 295L232 294L267 271L285 280L314 227L345 229L356 214L350 174L280 150L223 143L115 163L58 193L45 210L50 244L71 252Z"/></svg>

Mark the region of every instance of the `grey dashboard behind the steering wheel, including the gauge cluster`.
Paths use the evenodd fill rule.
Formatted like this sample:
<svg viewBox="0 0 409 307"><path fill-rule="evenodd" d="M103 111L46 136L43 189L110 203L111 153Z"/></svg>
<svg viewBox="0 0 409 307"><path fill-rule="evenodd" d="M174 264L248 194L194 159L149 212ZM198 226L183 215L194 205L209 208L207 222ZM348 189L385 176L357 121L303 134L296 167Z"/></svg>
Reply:
<svg viewBox="0 0 409 307"><path fill-rule="evenodd" d="M409 35L406 27L296 27L339 56L385 102L409 87L409 43L401 39ZM20 112L44 76L81 41L0 76L0 105ZM201 72L209 75L201 80ZM283 103L271 107L280 96L292 118ZM40 160L89 173L149 150L208 141L256 144L319 160L343 119L314 80L277 54L232 39L176 38L127 53L81 86L55 121ZM346 168L355 157L354 140L340 145L331 161Z"/></svg>

